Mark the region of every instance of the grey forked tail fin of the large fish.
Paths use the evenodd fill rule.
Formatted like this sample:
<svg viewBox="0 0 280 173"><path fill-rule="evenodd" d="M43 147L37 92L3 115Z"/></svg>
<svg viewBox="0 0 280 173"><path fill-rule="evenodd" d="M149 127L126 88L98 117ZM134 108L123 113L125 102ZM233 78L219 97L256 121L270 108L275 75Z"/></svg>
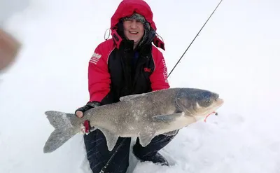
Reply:
<svg viewBox="0 0 280 173"><path fill-rule="evenodd" d="M51 153L78 133L78 127L73 126L73 123L71 123L77 117L72 113L59 111L45 111L45 115L50 124L55 127L43 147L43 153Z"/></svg>

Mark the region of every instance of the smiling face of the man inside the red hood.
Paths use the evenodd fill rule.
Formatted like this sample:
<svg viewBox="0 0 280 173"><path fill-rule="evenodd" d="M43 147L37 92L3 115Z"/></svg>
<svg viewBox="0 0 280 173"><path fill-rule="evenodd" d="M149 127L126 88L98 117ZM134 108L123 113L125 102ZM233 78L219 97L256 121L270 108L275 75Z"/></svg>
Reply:
<svg viewBox="0 0 280 173"><path fill-rule="evenodd" d="M125 20L123 22L125 37L129 40L134 40L134 45L139 43L139 41L144 36L144 25L143 23L132 19Z"/></svg>

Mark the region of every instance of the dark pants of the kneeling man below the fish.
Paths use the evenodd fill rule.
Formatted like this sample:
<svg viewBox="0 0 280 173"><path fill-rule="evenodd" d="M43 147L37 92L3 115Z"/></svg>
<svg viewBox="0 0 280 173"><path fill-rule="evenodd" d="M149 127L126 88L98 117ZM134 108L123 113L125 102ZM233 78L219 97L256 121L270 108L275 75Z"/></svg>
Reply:
<svg viewBox="0 0 280 173"><path fill-rule="evenodd" d="M155 155L160 149L165 147L173 139L174 136L165 136L160 134L153 138L148 146L143 147L139 144L139 139L134 145L134 153L138 158L146 158ZM90 134L84 135L85 149L87 151L87 160L90 162L90 168L93 173L99 173L102 167L106 165L111 155L115 152L116 147L120 145L124 138L119 137L115 148L109 151L106 144L104 134L100 130L94 130ZM125 173L129 165L129 154L130 154L130 142L131 138L126 138L122 146L118 149L118 152L111 160L109 167L106 172L118 172Z"/></svg>

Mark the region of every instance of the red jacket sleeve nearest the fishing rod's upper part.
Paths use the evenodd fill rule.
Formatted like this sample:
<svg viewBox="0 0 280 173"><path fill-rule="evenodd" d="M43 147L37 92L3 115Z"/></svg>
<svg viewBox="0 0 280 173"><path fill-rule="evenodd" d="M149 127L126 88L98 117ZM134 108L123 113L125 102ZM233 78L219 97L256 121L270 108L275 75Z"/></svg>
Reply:
<svg viewBox="0 0 280 173"><path fill-rule="evenodd" d="M153 52L153 54L155 69L150 76L152 90L155 91L170 88L167 80L168 74L165 58L159 50L157 50L157 53Z"/></svg>

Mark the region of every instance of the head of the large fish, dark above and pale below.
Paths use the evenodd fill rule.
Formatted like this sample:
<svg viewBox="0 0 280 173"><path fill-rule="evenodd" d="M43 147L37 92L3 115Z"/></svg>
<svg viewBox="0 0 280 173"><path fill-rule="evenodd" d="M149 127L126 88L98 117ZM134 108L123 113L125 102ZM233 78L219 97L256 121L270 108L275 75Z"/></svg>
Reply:
<svg viewBox="0 0 280 173"><path fill-rule="evenodd" d="M195 120L206 118L223 105L223 99L215 92L193 88L184 88L176 95L176 107L186 116Z"/></svg>

